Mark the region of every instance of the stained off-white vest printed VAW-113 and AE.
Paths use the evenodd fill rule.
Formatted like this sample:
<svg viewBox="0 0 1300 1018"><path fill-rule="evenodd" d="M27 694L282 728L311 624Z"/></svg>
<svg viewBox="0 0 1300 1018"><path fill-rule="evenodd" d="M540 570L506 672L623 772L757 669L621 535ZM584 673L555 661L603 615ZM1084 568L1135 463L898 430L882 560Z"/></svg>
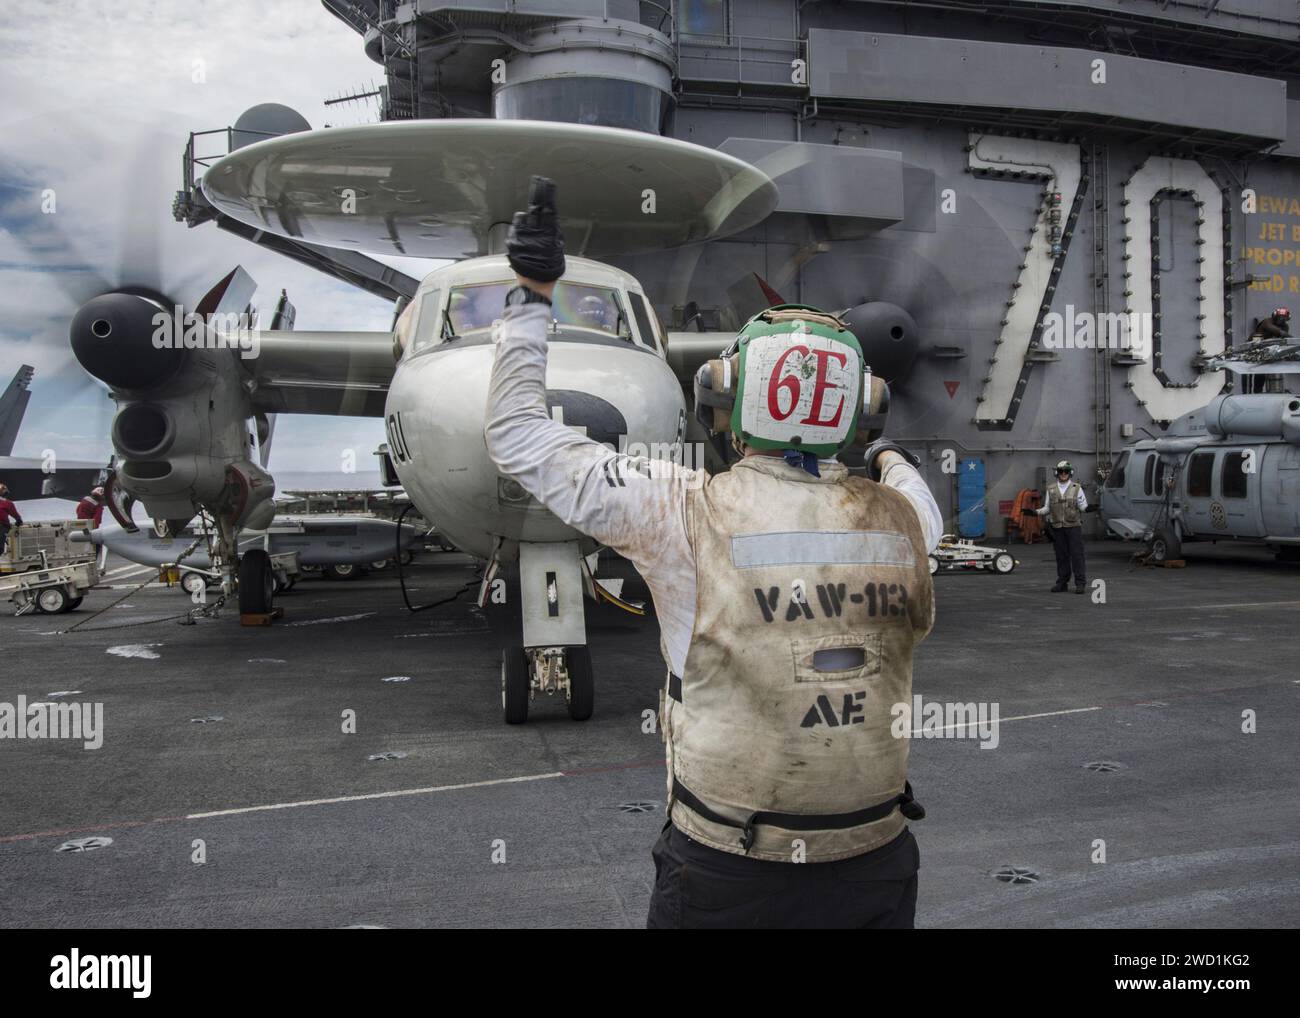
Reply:
<svg viewBox="0 0 1300 1018"><path fill-rule="evenodd" d="M902 831L907 740L890 707L911 702L913 649L933 624L915 510L838 463L820 469L748 456L686 495L696 625L663 701L670 815L774 862L796 861L796 840L802 861L828 862ZM840 671L814 667L822 650Z"/></svg>

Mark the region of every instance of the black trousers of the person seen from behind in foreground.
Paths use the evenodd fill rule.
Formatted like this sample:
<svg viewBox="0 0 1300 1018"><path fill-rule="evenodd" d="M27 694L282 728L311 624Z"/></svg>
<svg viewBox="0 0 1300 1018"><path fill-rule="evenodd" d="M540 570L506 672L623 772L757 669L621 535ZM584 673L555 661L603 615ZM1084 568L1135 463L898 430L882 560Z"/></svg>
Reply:
<svg viewBox="0 0 1300 1018"><path fill-rule="evenodd" d="M838 862L766 862L671 823L651 853L650 930L911 930L920 850L911 831Z"/></svg>

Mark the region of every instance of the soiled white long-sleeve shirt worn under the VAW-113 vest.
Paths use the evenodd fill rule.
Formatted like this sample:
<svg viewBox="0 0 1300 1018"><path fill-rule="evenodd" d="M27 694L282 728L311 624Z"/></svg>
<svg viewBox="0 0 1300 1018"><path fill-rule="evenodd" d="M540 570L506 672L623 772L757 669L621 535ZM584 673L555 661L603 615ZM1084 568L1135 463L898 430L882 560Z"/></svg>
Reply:
<svg viewBox="0 0 1300 1018"><path fill-rule="evenodd" d="M559 519L637 567L654 598L668 667L681 675L696 624L686 493L701 486L703 472L615 452L552 420L546 410L549 320L545 304L510 307L503 315L488 389L488 452L502 473ZM611 476L627 484L611 485ZM901 462L881 480L907 498L926 547L933 550L944 524L926 481Z"/></svg>

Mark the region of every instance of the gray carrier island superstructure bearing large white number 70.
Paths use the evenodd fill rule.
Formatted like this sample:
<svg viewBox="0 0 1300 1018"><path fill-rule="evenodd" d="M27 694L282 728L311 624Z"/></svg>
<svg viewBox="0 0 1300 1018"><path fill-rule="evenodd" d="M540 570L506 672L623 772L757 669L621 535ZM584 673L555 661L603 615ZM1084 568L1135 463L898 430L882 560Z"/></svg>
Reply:
<svg viewBox="0 0 1300 1018"><path fill-rule="evenodd" d="M1204 361L1300 304L1294 3L324 3L381 120L598 124L768 173L759 225L604 260L670 334L777 295L874 316L890 436L970 536L1054 460L1100 481L1240 391ZM482 254L430 228L424 254Z"/></svg>

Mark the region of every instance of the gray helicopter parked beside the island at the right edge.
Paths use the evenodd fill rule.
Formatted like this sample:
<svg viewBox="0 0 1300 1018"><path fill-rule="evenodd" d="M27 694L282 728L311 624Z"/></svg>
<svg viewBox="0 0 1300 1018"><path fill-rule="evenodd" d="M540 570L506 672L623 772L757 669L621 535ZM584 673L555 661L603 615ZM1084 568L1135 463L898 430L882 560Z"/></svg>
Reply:
<svg viewBox="0 0 1300 1018"><path fill-rule="evenodd" d="M1300 373L1295 341L1256 342L1210 359L1209 371ZM1106 529L1145 541L1156 562L1192 541L1248 541L1300 560L1300 395L1218 395L1161 437L1130 445L1101 489Z"/></svg>

